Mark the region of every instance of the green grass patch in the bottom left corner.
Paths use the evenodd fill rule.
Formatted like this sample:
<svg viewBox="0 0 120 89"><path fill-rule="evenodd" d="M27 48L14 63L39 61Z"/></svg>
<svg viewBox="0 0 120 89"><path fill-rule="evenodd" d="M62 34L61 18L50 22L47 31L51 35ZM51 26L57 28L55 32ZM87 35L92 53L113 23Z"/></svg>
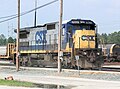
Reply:
<svg viewBox="0 0 120 89"><path fill-rule="evenodd" d="M17 80L3 80L3 79L0 79L0 85L18 86L18 87L37 87L36 84L31 82L23 82L23 81L17 81Z"/></svg>

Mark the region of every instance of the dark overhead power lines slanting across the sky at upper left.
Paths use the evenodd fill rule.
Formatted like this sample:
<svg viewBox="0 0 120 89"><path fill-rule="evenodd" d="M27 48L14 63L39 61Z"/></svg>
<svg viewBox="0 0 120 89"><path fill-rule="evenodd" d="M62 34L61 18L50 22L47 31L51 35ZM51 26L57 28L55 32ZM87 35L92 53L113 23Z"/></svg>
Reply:
<svg viewBox="0 0 120 89"><path fill-rule="evenodd" d="M35 8L35 9L29 10L29 11L26 11L26 12L23 12L23 13L20 14L20 16L23 16L23 15L26 15L26 14L28 14L28 13L31 13L31 12L37 10L37 9L43 8L43 7L45 7L45 6L48 6L48 5L50 5L50 4L55 3L55 2L57 2L57 1L59 1L59 0L54 0L54 1L51 1L51 2L49 2L49 3L44 4L44 5L42 5L42 6L39 6L39 7ZM10 17L10 18L9 18L9 17ZM8 19L5 19L5 20L0 21L0 23L3 23L3 22L6 22L6 21L15 19L15 18L17 18L17 17L18 17L18 14L10 15L10 16L5 16L5 17L0 17L0 19L8 18Z"/></svg>

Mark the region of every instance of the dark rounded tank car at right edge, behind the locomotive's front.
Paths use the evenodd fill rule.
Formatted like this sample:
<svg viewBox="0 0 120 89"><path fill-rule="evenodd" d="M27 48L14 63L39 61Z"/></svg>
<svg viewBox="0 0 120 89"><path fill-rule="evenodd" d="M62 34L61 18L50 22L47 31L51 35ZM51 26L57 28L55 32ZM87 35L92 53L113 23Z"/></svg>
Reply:
<svg viewBox="0 0 120 89"><path fill-rule="evenodd" d="M105 62L120 62L120 44L106 44L103 57Z"/></svg>

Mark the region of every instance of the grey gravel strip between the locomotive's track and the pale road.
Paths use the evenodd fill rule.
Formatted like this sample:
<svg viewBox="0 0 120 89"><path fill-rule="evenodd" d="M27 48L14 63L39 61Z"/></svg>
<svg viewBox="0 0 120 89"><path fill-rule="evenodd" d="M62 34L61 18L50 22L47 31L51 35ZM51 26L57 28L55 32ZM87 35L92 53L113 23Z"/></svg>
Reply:
<svg viewBox="0 0 120 89"><path fill-rule="evenodd" d="M91 71L91 70L68 70L64 69L58 74L57 69L53 68L21 68L16 72L15 67L0 67L0 74L9 75L27 75L27 76L63 76L63 77L77 77L96 80L120 81L120 73L106 72L106 71Z"/></svg>

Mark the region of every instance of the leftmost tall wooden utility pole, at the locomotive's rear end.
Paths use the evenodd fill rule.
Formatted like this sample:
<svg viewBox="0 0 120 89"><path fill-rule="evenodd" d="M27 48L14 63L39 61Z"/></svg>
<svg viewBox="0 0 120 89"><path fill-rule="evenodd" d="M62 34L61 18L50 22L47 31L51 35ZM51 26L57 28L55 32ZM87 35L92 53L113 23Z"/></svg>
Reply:
<svg viewBox="0 0 120 89"><path fill-rule="evenodd" d="M19 32L20 32L20 0L18 0L18 28L16 41L16 71L19 71Z"/></svg>

